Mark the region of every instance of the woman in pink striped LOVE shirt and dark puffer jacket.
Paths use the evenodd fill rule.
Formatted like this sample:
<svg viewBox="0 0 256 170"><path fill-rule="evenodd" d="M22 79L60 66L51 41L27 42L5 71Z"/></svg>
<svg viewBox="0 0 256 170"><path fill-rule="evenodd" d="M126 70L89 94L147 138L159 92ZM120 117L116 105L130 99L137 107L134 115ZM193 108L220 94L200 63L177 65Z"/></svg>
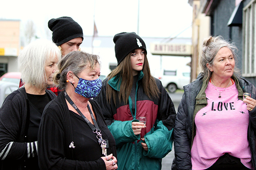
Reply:
<svg viewBox="0 0 256 170"><path fill-rule="evenodd" d="M172 170L256 169L256 91L238 77L235 50L220 36L203 42L203 72L184 87L175 119Z"/></svg>

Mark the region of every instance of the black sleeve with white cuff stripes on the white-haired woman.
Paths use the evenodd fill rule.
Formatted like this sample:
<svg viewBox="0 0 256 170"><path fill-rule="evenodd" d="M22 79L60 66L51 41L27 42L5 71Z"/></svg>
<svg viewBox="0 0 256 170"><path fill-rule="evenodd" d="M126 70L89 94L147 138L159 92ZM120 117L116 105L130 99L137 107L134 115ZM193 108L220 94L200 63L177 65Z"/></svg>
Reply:
<svg viewBox="0 0 256 170"><path fill-rule="evenodd" d="M18 91L14 91L0 108L0 160L25 160L37 156L37 141L18 141L22 138L21 126L26 107L23 101Z"/></svg>

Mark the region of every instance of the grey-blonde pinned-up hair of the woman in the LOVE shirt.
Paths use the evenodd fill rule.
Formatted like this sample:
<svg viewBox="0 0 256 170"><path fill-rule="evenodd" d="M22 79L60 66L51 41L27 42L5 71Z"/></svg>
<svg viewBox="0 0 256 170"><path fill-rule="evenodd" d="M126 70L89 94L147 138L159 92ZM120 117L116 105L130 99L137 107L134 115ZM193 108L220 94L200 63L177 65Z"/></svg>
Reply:
<svg viewBox="0 0 256 170"><path fill-rule="evenodd" d="M201 51L201 68L203 69L204 77L206 77L206 80L208 80L212 74L210 70L207 67L207 63L209 65L213 65L213 60L222 47L228 47L235 59L235 63L237 61L237 55L236 51L238 50L237 47L234 45L233 42L228 42L223 39L222 36L213 37L210 36L206 40L203 41L203 49ZM235 66L234 73L235 76L240 76L240 70Z"/></svg>

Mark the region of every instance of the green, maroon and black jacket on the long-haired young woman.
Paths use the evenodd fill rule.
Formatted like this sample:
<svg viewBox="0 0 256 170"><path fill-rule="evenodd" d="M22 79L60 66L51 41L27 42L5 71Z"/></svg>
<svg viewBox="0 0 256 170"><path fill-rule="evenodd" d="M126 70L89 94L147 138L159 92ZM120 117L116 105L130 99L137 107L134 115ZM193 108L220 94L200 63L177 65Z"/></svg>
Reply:
<svg viewBox="0 0 256 170"><path fill-rule="evenodd" d="M174 104L161 81L156 78L160 91L159 98L146 96L142 86L143 76L143 72L138 75L135 113L132 112L130 96L127 104L124 101L119 102L118 96L117 105L114 105L113 98L111 103L107 102L107 84L118 91L118 83L121 83L119 76L113 77L110 81L106 78L100 94L94 98L100 105L108 128L116 140L118 169L121 170L160 170L162 158L172 149L176 116ZM141 134L135 135L132 122L138 121L140 116L146 116L146 128L142 129ZM143 137L148 145L148 151L142 148Z"/></svg>

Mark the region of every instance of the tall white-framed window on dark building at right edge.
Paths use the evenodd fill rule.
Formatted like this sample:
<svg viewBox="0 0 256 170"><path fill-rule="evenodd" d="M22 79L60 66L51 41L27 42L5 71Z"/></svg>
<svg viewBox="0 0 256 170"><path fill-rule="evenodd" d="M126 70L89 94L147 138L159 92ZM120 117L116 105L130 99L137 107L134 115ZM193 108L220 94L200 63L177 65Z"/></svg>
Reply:
<svg viewBox="0 0 256 170"><path fill-rule="evenodd" d="M256 17L255 2L251 0L243 9L243 64L242 76L256 76Z"/></svg>

